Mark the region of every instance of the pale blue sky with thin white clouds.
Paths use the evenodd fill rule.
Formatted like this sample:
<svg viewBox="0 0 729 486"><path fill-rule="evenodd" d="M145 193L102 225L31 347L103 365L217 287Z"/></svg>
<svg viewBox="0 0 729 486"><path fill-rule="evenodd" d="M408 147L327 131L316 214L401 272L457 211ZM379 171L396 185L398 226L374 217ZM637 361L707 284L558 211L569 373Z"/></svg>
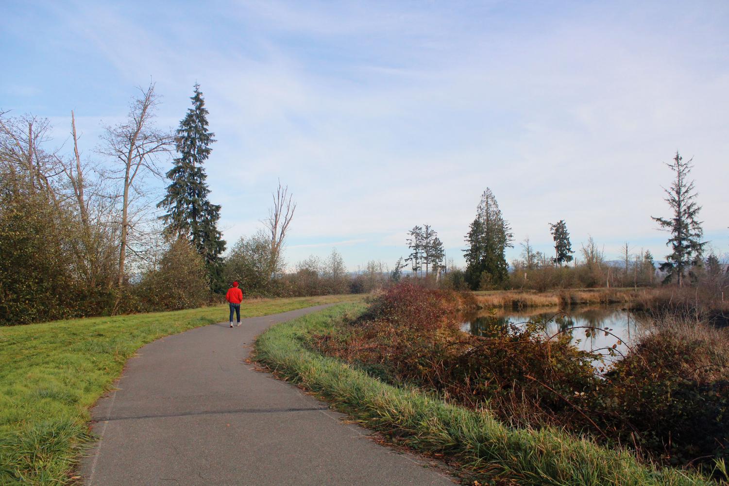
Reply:
<svg viewBox="0 0 729 486"><path fill-rule="evenodd" d="M491 187L517 242L565 219L617 258L666 254L676 150L694 158L706 238L729 248L726 1L4 0L0 109L31 112L86 157L135 87L176 127L200 82L206 167L232 244L278 178L298 203L286 259L332 247L392 266L428 223L448 256ZM518 245L509 256L518 254Z"/></svg>

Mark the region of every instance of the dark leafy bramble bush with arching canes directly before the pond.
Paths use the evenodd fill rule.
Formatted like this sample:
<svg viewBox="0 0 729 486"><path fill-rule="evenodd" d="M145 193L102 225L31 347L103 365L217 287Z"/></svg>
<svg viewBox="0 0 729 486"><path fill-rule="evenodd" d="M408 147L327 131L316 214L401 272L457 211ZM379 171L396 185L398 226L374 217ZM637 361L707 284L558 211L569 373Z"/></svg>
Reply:
<svg viewBox="0 0 729 486"><path fill-rule="evenodd" d="M537 322L469 337L467 345L443 353L436 373L422 378L461 404L488 402L512 424L583 423L573 401L595 387L592 363L598 356L576 348L569 335L549 340L543 330Z"/></svg>

